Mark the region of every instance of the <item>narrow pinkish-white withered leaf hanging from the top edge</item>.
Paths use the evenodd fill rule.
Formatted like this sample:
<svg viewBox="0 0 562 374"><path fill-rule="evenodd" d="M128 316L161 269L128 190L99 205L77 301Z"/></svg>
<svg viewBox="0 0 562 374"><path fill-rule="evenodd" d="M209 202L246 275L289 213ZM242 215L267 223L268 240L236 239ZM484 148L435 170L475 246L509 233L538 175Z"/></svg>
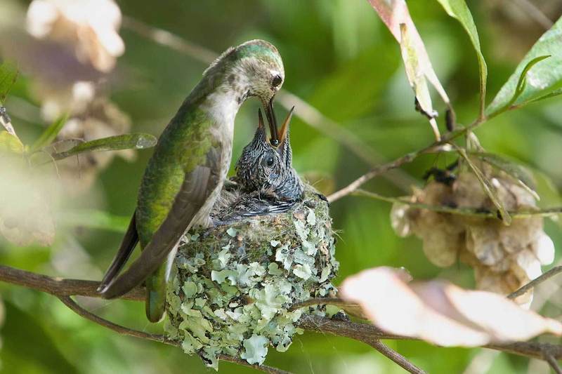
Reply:
<svg viewBox="0 0 562 374"><path fill-rule="evenodd" d="M408 81L414 89L417 102L419 102L419 109L428 116L433 131L436 132L437 125L434 120L432 121L436 113L431 105L426 79L436 88L448 107L450 107L450 100L433 71L424 42L417 32L412 18L410 18L410 12L405 1L369 0L369 2L400 44ZM437 135L438 133L436 133Z"/></svg>

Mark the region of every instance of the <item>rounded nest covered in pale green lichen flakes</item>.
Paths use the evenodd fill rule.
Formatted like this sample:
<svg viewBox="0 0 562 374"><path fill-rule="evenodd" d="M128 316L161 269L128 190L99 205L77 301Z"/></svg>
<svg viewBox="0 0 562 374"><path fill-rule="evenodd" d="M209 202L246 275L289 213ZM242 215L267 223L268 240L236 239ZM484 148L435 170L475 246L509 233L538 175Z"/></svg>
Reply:
<svg viewBox="0 0 562 374"><path fill-rule="evenodd" d="M309 186L286 213L192 230L169 283L169 338L213 368L219 354L261 364L268 347L285 352L303 313L289 308L335 293L334 251L327 202Z"/></svg>

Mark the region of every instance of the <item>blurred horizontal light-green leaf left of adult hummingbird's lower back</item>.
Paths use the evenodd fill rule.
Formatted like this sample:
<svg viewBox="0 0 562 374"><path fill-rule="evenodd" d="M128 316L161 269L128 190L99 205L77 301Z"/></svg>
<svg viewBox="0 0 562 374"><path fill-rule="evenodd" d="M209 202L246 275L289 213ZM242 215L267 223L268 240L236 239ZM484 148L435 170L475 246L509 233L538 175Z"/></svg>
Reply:
<svg viewBox="0 0 562 374"><path fill-rule="evenodd" d="M113 215L104 211L81 209L79 211L65 211L58 222L72 227L87 227L89 229L105 229L115 232L126 232L130 217Z"/></svg>

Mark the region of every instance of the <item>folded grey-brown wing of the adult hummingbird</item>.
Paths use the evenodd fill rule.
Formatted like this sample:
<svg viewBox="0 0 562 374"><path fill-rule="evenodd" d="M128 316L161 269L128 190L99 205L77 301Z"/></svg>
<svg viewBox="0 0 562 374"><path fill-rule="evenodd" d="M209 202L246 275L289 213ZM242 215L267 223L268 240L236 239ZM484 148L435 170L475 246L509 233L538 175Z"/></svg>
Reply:
<svg viewBox="0 0 562 374"><path fill-rule="evenodd" d="M205 158L204 164L185 173L164 222L129 269L102 290L104 298L117 298L141 284L162 265L185 230L209 213L207 210L211 209L217 196L214 192L222 187L219 146L210 147Z"/></svg>

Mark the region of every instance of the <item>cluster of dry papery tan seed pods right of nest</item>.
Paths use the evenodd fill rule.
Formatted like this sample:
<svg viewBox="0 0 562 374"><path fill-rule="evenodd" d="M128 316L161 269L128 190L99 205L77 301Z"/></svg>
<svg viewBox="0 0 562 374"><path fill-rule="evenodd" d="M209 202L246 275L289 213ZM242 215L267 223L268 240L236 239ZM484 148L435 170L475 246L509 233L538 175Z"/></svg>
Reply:
<svg viewBox="0 0 562 374"><path fill-rule="evenodd" d="M490 173L499 199L508 211L537 208L532 194L503 173ZM495 207L483 191L476 175L459 173L450 185L430 182L410 200L431 206L470 208L494 212ZM512 220L506 226L497 218L440 213L395 204L391 212L395 231L401 236L414 234L423 241L426 257L439 267L458 260L473 267L476 286L507 295L542 274L541 265L554 261L554 244L543 231L538 215ZM515 300L528 307L532 290Z"/></svg>

